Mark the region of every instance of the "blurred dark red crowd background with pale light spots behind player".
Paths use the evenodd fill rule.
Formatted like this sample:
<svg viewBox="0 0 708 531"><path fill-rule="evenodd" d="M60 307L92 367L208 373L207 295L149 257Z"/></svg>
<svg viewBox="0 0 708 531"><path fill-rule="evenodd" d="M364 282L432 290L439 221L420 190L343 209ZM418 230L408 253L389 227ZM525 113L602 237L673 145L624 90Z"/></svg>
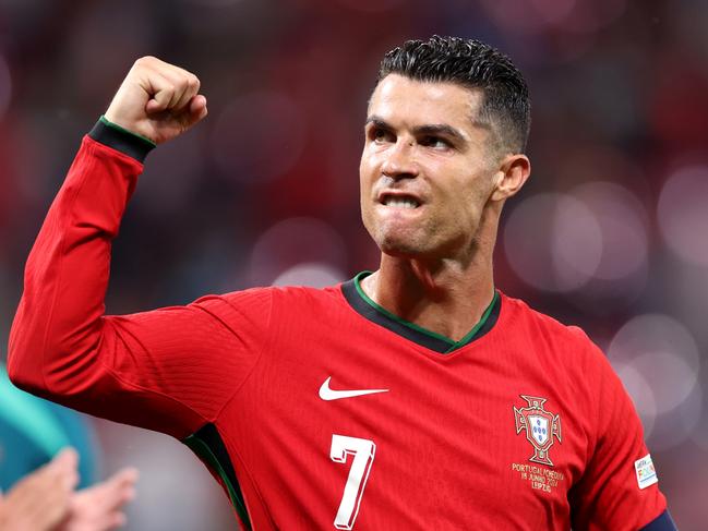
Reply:
<svg viewBox="0 0 708 531"><path fill-rule="evenodd" d="M211 112L148 156L110 313L375 269L358 206L365 104L381 56L432 34L499 47L530 86L533 171L506 207L496 286L602 347L679 527L705 529L705 1L0 0L1 357L47 207L137 57L196 73ZM106 470L142 470L129 529L232 529L187 448L94 422Z"/></svg>

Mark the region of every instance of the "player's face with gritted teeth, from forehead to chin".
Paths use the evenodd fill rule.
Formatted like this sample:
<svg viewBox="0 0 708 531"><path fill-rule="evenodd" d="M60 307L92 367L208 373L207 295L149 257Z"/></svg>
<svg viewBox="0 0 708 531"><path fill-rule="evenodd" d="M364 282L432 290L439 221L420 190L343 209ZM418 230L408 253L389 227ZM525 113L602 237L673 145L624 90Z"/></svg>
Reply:
<svg viewBox="0 0 708 531"><path fill-rule="evenodd" d="M456 258L472 252L499 166L473 120L481 92L384 77L369 105L359 167L361 214L382 252Z"/></svg>

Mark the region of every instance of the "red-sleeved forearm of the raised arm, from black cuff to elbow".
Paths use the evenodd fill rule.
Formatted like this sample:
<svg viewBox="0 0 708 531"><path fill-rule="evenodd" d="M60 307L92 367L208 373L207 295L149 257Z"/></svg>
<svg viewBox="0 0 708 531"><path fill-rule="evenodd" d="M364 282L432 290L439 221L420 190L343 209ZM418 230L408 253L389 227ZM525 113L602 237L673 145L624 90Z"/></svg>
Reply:
<svg viewBox="0 0 708 531"><path fill-rule="evenodd" d="M116 136L99 124L84 137L27 261L8 371L39 395L76 389L77 375L98 362L111 240L148 149L137 137L121 146L133 158L101 143Z"/></svg>

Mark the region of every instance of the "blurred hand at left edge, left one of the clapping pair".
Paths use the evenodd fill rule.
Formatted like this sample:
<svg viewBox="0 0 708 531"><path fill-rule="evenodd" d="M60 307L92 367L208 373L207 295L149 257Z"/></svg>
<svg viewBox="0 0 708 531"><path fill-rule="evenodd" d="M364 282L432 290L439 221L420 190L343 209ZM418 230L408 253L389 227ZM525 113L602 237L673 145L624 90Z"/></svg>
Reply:
<svg viewBox="0 0 708 531"><path fill-rule="evenodd" d="M0 530L51 531L67 517L79 483L79 456L71 449L26 475L0 499Z"/></svg>

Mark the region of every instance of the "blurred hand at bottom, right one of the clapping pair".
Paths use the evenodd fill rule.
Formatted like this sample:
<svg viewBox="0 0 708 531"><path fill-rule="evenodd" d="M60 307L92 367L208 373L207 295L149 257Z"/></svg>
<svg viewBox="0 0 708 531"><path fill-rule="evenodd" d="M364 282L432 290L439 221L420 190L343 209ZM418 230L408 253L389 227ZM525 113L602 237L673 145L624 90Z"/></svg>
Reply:
<svg viewBox="0 0 708 531"><path fill-rule="evenodd" d="M104 482L74 493L58 531L109 531L125 523L123 506L135 497L137 470L127 468Z"/></svg>

